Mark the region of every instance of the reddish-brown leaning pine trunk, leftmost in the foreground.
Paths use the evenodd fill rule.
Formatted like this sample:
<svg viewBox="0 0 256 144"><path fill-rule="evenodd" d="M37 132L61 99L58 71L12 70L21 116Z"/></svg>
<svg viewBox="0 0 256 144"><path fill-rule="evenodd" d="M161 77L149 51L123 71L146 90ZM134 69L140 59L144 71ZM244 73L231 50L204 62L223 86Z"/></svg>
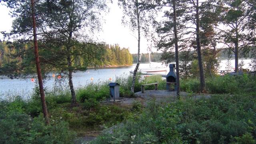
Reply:
<svg viewBox="0 0 256 144"><path fill-rule="evenodd" d="M43 80L42 80L39 54L38 54L34 0L31 0L31 6L32 6L32 25L33 25L33 36L34 36L34 52L35 52L35 59L36 59L36 72L37 72L37 76L38 76L38 84L39 84L43 114L44 114L44 118L46 120L46 123L49 124L50 121L49 121L49 118L48 118L48 112L47 112L47 108L46 108L46 102L45 102L45 96L44 96L44 85L43 85Z"/></svg>

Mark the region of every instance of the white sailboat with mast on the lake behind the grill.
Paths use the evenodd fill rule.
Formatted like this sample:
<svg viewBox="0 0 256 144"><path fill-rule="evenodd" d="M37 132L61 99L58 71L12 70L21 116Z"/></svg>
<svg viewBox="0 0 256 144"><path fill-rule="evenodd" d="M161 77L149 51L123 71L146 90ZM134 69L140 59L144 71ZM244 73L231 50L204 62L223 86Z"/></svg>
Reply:
<svg viewBox="0 0 256 144"><path fill-rule="evenodd" d="M147 68L140 68L140 70L142 72L167 72L167 67L160 65L160 63L158 62L151 62L151 58L150 58L150 53L149 53L149 66Z"/></svg>

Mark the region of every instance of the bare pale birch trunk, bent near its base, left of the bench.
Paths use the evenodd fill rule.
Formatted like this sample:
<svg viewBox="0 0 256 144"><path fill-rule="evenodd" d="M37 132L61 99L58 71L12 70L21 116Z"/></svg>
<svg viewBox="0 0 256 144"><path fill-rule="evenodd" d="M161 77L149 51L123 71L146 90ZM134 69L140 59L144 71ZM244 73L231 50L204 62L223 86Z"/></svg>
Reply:
<svg viewBox="0 0 256 144"><path fill-rule="evenodd" d="M131 92L134 93L134 87L135 87L135 80L136 80L136 73L138 71L138 68L140 66L140 14L139 14L139 7L138 7L138 0L136 0L136 12L137 12L137 24L138 24L138 55L137 55L137 65L134 69L133 72L133 77L132 77L132 88L131 88Z"/></svg>

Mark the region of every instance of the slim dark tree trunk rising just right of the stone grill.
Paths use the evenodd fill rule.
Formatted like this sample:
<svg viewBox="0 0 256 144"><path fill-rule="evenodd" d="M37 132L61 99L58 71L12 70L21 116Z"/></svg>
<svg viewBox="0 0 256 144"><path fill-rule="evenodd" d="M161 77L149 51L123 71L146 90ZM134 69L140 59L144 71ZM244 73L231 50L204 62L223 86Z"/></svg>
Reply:
<svg viewBox="0 0 256 144"><path fill-rule="evenodd" d="M174 38L175 38L175 60L176 60L176 82L177 82L177 99L180 99L180 69L179 69L179 50L178 50L178 32L176 22L176 0L173 1L173 21L174 21Z"/></svg>

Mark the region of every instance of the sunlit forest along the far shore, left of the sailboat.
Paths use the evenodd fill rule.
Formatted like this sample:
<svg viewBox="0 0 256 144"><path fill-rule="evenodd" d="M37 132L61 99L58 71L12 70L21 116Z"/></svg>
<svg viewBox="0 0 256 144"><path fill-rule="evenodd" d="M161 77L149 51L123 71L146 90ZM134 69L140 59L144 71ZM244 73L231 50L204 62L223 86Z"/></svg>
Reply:
<svg viewBox="0 0 256 144"><path fill-rule="evenodd" d="M0 74L8 75L10 78L21 76L20 74L24 73L34 74L36 72L36 66L32 62L34 61L34 57L32 55L33 49L28 47L30 47L29 43L19 44L16 42L0 42ZM84 47L84 50L86 49L87 51L94 52L100 47L102 47L101 44L87 44L87 46ZM53 55L52 53L48 53L43 49L40 49L39 52L44 58L50 58L49 56ZM129 49L121 49L118 44L115 44L114 46L104 45L102 48L102 53L103 56L101 60L95 59L90 61L86 60L86 58L82 58L81 56L76 56L74 61L72 61L72 66L76 67L76 70L84 70L87 67L93 66L126 66L132 64L132 55L130 54ZM65 60L52 60L52 63L65 62ZM42 72L59 70L57 67L51 67L50 69L47 68L48 64L49 63L45 61L41 62Z"/></svg>

